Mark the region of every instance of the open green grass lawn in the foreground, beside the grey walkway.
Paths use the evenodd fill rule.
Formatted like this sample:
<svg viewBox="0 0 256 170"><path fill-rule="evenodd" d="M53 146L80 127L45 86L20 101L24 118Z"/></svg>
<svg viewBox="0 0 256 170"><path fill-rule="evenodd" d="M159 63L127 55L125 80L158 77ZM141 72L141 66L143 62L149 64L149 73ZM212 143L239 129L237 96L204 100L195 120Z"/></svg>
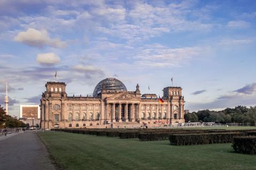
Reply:
<svg viewBox="0 0 256 170"><path fill-rule="evenodd" d="M256 169L256 156L229 144L169 145L65 132L38 133L64 169Z"/></svg>

